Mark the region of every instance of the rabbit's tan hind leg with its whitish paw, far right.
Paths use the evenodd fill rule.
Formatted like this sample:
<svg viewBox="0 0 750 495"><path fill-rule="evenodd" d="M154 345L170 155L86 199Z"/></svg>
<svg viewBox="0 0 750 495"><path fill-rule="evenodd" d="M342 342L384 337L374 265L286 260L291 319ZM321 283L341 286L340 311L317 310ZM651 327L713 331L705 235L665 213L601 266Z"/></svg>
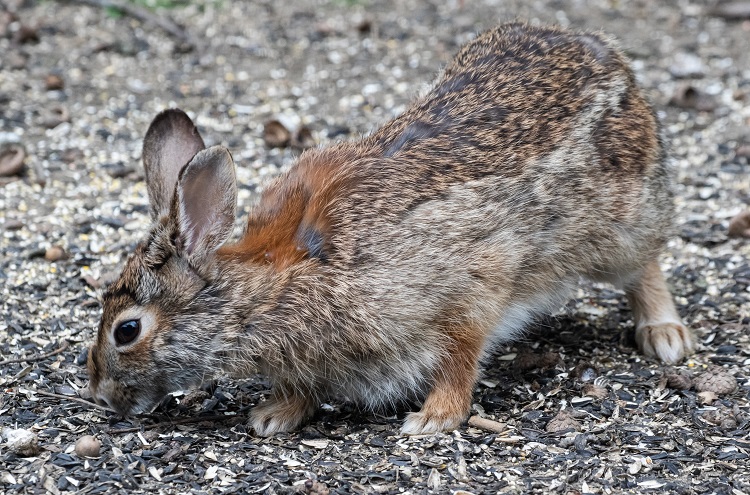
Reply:
<svg viewBox="0 0 750 495"><path fill-rule="evenodd" d="M676 363L693 351L694 337L677 314L656 260L625 286L635 316L635 340L646 356Z"/></svg>

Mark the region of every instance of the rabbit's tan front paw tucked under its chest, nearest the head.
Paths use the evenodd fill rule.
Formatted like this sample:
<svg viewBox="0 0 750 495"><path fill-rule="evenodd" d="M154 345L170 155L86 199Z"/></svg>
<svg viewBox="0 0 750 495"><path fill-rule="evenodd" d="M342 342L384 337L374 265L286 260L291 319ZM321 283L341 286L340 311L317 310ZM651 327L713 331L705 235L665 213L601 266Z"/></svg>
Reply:
<svg viewBox="0 0 750 495"><path fill-rule="evenodd" d="M250 426L261 437L294 430L312 415L315 405L306 397L273 396L250 411Z"/></svg>

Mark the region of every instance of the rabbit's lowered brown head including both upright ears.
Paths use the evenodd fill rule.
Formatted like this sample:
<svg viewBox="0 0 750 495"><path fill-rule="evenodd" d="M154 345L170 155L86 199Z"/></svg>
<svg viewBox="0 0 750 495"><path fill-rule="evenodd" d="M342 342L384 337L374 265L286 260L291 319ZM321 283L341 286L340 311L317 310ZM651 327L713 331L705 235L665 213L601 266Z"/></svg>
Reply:
<svg viewBox="0 0 750 495"><path fill-rule="evenodd" d="M148 411L219 371L226 301L216 252L237 202L231 155L204 149L180 110L151 123L143 162L153 225L104 293L88 359L93 397L121 414Z"/></svg>

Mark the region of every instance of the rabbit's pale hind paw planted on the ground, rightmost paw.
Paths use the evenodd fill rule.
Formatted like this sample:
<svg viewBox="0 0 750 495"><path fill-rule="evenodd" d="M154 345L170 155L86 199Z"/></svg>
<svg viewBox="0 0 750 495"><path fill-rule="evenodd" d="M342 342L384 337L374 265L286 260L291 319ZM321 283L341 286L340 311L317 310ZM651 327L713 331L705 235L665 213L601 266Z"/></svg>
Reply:
<svg viewBox="0 0 750 495"><path fill-rule="evenodd" d="M635 332L638 348L646 356L657 357L667 364L681 361L693 352L693 335L681 323L644 325Z"/></svg>

